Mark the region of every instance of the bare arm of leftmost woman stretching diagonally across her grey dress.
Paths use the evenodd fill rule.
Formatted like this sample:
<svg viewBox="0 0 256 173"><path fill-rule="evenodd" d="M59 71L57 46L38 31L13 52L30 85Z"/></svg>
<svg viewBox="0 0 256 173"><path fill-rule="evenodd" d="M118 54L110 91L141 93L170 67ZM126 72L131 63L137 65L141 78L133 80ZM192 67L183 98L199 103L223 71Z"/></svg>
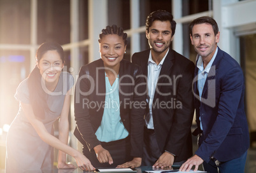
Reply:
<svg viewBox="0 0 256 173"><path fill-rule="evenodd" d="M65 102L69 102L66 101ZM67 103L66 103L67 104ZM65 105L65 103L64 103ZM32 110L31 104L25 104L21 102L22 109L24 110L25 116L27 120L31 123L32 127L36 130L38 133L39 137L49 144L50 146L53 146L56 149L59 149L65 153L68 153L69 155L73 156L76 159L76 163L78 167L80 167L82 170L88 169L88 170L93 170L94 167L91 165L90 161L79 151L76 149L71 148L68 146L65 142L60 141L53 135L51 135L45 128L45 125L43 124L42 121L40 121L35 115ZM68 109L68 108L66 108ZM63 140L65 137L63 137ZM67 141L67 140L66 140ZM66 160L66 158L65 158Z"/></svg>

